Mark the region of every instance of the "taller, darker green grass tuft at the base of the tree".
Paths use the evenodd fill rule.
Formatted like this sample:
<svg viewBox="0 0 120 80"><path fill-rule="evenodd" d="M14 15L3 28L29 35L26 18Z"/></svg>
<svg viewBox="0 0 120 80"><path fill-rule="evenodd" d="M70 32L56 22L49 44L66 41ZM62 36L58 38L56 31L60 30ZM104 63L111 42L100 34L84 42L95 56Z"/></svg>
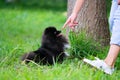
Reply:
<svg viewBox="0 0 120 80"><path fill-rule="evenodd" d="M99 53L104 53L104 48L99 43L93 41L92 38L85 36L84 31L81 31L79 34L70 32L69 40L72 45L69 53L79 59L89 56L99 56Z"/></svg>

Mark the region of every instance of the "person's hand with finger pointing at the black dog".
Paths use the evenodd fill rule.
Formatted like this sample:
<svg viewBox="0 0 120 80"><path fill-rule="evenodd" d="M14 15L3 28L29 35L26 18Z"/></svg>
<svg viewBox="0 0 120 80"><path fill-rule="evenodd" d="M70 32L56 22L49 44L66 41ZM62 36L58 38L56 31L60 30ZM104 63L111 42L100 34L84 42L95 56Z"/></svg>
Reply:
<svg viewBox="0 0 120 80"><path fill-rule="evenodd" d="M65 28L65 27L69 26L71 29L74 29L74 27L78 25L78 23L75 21L76 18L77 18L77 14L72 13L71 16L67 19L67 21L65 22L65 24L63 25L62 28Z"/></svg>

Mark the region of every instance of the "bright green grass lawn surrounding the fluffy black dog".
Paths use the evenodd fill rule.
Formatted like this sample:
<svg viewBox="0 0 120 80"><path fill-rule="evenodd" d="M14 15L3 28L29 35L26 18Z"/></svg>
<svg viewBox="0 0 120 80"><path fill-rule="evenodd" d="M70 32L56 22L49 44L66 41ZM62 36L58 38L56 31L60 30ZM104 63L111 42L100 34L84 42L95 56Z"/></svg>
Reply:
<svg viewBox="0 0 120 80"><path fill-rule="evenodd" d="M27 66L20 62L22 54L36 50L40 46L42 32L47 26L53 25L61 29L65 19L64 11L59 10L18 7L0 9L0 80L119 80L118 68L112 76L109 76L84 64L79 58L66 59L62 64L54 66L34 63ZM65 30L63 32L65 34ZM102 51L103 53L92 48L94 50L92 52L90 46L93 44L90 41L81 36L77 36L76 40L74 36L72 38L70 37L73 52L82 44L80 52L88 54L90 52L89 58L93 57L93 52L100 58L106 56L108 48ZM78 45L75 46L76 44ZM77 57L79 51L71 55ZM118 67L119 62L120 59L116 63Z"/></svg>

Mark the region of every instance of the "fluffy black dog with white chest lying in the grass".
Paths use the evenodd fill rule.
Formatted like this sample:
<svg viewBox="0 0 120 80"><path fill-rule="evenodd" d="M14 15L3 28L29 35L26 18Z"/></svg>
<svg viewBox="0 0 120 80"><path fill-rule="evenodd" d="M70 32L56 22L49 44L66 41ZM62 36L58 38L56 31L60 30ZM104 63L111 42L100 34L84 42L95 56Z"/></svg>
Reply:
<svg viewBox="0 0 120 80"><path fill-rule="evenodd" d="M68 40L55 27L48 27L42 35L41 47L22 56L22 61L34 61L40 64L54 64L62 62L68 55L65 48L69 47Z"/></svg>

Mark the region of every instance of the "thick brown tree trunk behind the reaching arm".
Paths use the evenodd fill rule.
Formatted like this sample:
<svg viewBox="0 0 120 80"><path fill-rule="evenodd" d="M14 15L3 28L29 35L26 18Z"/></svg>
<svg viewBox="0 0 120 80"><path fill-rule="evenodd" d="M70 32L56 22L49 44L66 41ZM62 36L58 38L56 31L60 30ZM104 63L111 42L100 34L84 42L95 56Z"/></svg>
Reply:
<svg viewBox="0 0 120 80"><path fill-rule="evenodd" d="M68 0L68 16L70 16L76 0ZM101 45L106 46L110 41L105 0L85 0L77 17L77 30L85 30ZM69 29L67 29L69 31Z"/></svg>

